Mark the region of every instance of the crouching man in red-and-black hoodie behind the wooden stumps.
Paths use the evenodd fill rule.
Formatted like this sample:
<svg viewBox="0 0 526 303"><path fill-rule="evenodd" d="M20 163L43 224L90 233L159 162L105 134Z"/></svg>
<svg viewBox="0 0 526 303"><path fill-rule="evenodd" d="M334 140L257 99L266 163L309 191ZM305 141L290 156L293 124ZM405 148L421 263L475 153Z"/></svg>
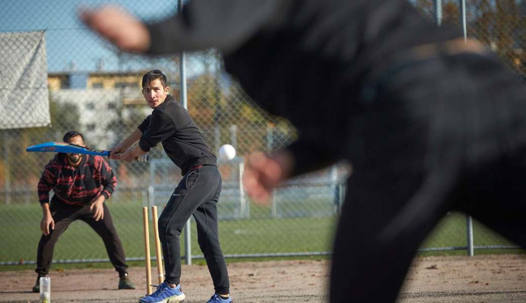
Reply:
<svg viewBox="0 0 526 303"><path fill-rule="evenodd" d="M63 140L85 146L83 134L77 131L68 131ZM35 270L38 277L33 292L40 291L39 279L49 273L58 238L76 220L86 222L102 238L109 260L119 273L118 289L135 289L127 272L123 245L104 203L112 195L116 184L112 168L102 156L57 153L49 161L38 182L43 218ZM51 190L54 195L49 201Z"/></svg>

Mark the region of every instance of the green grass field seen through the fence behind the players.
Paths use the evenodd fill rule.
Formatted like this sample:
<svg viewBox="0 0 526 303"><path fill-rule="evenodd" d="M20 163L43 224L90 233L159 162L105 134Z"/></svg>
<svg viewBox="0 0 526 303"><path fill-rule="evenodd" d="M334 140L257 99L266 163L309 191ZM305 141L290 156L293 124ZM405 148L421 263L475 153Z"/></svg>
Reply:
<svg viewBox="0 0 526 303"><path fill-rule="evenodd" d="M141 202L108 201L117 232L127 257L144 257ZM0 206L0 262L36 260L41 232L42 211L37 203ZM251 206L251 218L220 221L219 236L226 255L327 252L330 250L335 216L272 218L268 208ZM151 255L155 256L150 223ZM181 236L184 252L184 237ZM498 235L474 223L474 244L512 245ZM450 214L423 243L426 247L463 247L466 241L466 218ZM480 250L482 252L482 250ZM437 252L428 254L466 254ZM476 252L479 253L479 252ZM192 254L200 255L195 225L192 228ZM184 253L183 253L184 255ZM76 221L64 232L55 246L55 260L107 259L102 240L84 222ZM11 266L0 266L0 270Z"/></svg>

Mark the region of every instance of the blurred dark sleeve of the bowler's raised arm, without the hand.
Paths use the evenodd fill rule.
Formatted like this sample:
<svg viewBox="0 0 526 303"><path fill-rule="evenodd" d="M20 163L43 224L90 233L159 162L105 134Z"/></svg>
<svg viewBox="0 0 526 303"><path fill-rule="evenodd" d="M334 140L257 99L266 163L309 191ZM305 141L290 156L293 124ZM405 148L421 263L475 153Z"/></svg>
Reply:
<svg viewBox="0 0 526 303"><path fill-rule="evenodd" d="M218 48L228 52L285 19L291 0L194 0L183 13L148 25L149 54Z"/></svg>

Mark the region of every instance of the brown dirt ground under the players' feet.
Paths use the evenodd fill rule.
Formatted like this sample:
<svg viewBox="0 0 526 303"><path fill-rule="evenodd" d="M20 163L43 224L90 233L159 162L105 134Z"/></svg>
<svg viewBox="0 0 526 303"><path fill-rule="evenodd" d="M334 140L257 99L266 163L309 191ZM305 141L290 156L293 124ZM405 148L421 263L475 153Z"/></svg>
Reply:
<svg viewBox="0 0 526 303"><path fill-rule="evenodd" d="M236 303L328 301L326 261L231 263L228 270ZM419 257L410 270L399 303L526 302L524 256ZM145 269L129 272L136 290L117 290L113 269L53 270L52 302L137 302L146 292ZM0 272L0 302L38 302L35 279L31 270ZM206 302L213 293L206 266L184 265L181 284L186 303Z"/></svg>

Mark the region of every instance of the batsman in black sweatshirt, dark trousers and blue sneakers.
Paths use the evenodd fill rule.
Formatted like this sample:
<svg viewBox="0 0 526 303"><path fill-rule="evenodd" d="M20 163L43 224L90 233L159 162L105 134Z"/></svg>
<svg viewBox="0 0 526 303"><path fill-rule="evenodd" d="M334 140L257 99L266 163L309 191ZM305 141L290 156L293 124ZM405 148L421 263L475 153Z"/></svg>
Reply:
<svg viewBox="0 0 526 303"><path fill-rule="evenodd" d="M129 162L161 143L183 175L159 216L165 279L153 294L140 298L139 302L176 303L186 298L180 284L179 236L186 222L194 216L197 242L214 283L215 293L208 303L231 303L227 265L219 244L217 202L222 181L217 158L188 111L170 95L167 83L166 76L158 69L144 74L143 96L153 111L110 153L110 158Z"/></svg>

